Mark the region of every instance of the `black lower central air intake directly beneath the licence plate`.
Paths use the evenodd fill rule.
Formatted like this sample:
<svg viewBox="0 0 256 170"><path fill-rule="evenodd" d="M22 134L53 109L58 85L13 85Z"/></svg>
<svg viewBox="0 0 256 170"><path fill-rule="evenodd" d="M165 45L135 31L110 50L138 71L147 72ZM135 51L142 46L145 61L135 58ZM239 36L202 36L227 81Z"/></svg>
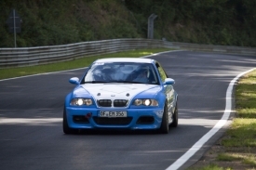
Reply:
<svg viewBox="0 0 256 170"><path fill-rule="evenodd" d="M94 116L93 120L96 124L101 124L101 125L127 125L131 122L132 117L108 118L108 117Z"/></svg>

